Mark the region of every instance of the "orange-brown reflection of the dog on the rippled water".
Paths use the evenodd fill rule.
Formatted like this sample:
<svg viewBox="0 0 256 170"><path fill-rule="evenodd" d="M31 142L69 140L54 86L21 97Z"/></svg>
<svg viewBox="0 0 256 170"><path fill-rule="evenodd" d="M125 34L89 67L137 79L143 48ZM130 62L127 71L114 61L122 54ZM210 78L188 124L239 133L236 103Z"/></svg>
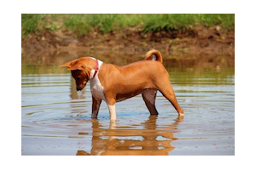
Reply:
<svg viewBox="0 0 256 170"><path fill-rule="evenodd" d="M177 140L174 133L183 116L165 127L158 127L156 120L157 116L148 116L148 120L141 123L143 128L134 129L116 128L115 122L105 128L93 119L90 153L78 150L77 156L167 156L175 148L171 143Z"/></svg>

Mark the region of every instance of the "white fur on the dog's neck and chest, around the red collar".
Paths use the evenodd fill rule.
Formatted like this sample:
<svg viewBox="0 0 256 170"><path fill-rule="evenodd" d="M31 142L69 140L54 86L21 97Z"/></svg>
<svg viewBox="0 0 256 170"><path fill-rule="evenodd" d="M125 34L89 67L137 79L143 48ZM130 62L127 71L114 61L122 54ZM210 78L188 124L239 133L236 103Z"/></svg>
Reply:
<svg viewBox="0 0 256 170"><path fill-rule="evenodd" d="M98 74L101 70L101 66L102 66L102 61L98 60L99 62L99 71L96 73L96 76L94 78L93 75L94 75L94 72L95 70L92 70L90 71L90 92L91 94L93 95L93 97L95 97L96 99L103 99L106 101L105 99L105 95L104 95L104 92L103 92L103 87L102 87L102 83L98 77Z"/></svg>

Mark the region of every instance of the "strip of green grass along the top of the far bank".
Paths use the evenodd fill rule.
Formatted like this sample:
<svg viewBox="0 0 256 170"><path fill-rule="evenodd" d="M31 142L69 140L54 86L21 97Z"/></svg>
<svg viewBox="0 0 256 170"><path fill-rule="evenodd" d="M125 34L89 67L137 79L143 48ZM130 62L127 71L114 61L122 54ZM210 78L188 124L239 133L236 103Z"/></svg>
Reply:
<svg viewBox="0 0 256 170"><path fill-rule="evenodd" d="M21 14L21 35L44 30L71 31L78 37L97 31L106 34L127 26L144 33L173 31L193 26L221 26L235 30L235 14Z"/></svg>

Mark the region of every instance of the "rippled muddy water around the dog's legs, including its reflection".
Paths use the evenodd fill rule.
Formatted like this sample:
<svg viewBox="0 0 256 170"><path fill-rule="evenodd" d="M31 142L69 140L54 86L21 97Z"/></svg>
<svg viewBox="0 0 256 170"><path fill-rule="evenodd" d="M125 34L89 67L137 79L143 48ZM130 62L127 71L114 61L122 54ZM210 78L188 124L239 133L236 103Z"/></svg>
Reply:
<svg viewBox="0 0 256 170"><path fill-rule="evenodd" d="M138 95L119 102L110 123L104 102L90 119L89 84L78 95L70 73L22 65L22 155L235 155L234 69L168 71L183 118L158 92L159 116Z"/></svg>

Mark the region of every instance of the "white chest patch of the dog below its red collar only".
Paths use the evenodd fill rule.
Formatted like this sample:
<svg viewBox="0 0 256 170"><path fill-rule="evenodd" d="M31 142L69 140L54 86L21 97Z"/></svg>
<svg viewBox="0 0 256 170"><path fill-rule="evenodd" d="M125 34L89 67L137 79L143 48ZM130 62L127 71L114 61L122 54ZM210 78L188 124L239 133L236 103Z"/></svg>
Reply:
<svg viewBox="0 0 256 170"><path fill-rule="evenodd" d="M90 80L90 92L94 98L105 100L102 83L100 82L98 75Z"/></svg>

